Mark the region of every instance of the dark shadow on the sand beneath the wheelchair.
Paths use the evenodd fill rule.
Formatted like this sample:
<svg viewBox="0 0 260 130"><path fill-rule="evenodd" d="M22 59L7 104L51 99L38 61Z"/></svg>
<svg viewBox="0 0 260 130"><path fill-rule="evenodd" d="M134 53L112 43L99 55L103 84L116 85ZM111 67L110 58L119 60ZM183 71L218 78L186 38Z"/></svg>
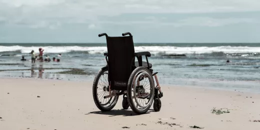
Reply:
<svg viewBox="0 0 260 130"><path fill-rule="evenodd" d="M150 113L152 111L150 111L151 109L149 109L149 111L147 111L144 114ZM112 109L109 111L92 111L86 114L105 114L105 115L110 115L110 116L116 116L116 115L123 115L123 116L134 116L134 115L139 115L134 113L131 109Z"/></svg>

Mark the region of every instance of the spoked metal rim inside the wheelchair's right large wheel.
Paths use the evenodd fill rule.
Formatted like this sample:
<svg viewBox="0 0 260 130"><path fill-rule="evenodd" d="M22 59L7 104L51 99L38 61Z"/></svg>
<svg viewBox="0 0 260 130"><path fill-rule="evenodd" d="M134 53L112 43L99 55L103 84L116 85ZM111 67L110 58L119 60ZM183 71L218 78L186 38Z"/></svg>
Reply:
<svg viewBox="0 0 260 130"><path fill-rule="evenodd" d="M136 91L136 87L138 84L138 79L140 79L140 77L143 77L143 79L141 81L139 81L139 86L142 86L143 88L137 89ZM147 88L148 87L148 88ZM149 92L148 92L149 91ZM134 75L134 80L133 80L133 84L132 84L132 101L134 104L134 107L138 110L143 110L145 108L147 108L148 106L150 106L150 104L152 103L153 100L153 94L154 93L154 88L152 85L152 80L151 80L151 76L149 75L148 72L142 70L138 73L136 73ZM149 93L149 94L148 94ZM143 95L141 97L145 97L148 95L148 100L146 101L146 98L139 98L137 96ZM139 108L138 108L139 106Z"/></svg>

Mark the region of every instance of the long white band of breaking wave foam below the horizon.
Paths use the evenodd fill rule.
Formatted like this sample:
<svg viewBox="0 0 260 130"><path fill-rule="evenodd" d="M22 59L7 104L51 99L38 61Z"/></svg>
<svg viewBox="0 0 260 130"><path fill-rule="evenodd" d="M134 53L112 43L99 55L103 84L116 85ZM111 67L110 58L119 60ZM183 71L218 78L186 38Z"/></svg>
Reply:
<svg viewBox="0 0 260 130"><path fill-rule="evenodd" d="M17 51L21 53L29 53L31 50L38 52L40 46L24 47L19 45L0 46L0 52ZM44 53L66 53L70 51L87 51L88 53L103 53L107 51L106 46L43 46ZM216 47L176 47L176 46L135 46L135 52L149 51L152 54L183 54L183 53L251 53L260 52L260 47L248 46L216 46Z"/></svg>

